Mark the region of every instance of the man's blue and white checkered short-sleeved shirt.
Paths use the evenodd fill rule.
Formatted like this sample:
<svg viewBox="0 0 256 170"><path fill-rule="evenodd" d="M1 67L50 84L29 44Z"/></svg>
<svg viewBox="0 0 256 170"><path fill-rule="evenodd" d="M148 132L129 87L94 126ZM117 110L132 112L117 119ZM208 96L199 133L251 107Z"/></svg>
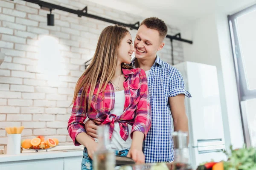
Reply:
<svg viewBox="0 0 256 170"><path fill-rule="evenodd" d="M131 62L134 67L135 58ZM144 142L145 162L171 162L174 160L172 139L173 121L169 97L185 94L185 84L180 71L157 56L148 75L148 91L151 102L151 128Z"/></svg>

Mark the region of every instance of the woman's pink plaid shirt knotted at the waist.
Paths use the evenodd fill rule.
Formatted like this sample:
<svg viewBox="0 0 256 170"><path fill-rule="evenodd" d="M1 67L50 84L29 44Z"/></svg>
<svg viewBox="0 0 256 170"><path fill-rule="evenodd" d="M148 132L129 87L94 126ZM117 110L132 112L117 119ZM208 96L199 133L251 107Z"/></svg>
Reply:
<svg viewBox="0 0 256 170"><path fill-rule="evenodd" d="M84 111L84 103L79 107L81 101L81 92L74 102L72 113L68 121L68 133L73 139L76 146L80 144L76 141L76 136L81 132L86 132L84 129L84 120L86 116L89 119L96 119L102 124L110 125L110 138L114 129L114 122L119 122L120 136L126 141L129 135L128 124L132 126L131 138L134 131L143 132L146 136L151 127L151 106L148 96L148 82L145 71L140 68L122 69L125 77L124 91L125 91L125 106L123 114L116 116L110 111L114 108L115 93L113 85L108 82L103 95L102 90L99 96L95 98L99 85L93 93L90 110ZM104 96L104 97L103 97ZM87 95L88 99L88 95ZM87 113L87 114L86 114ZM144 136L144 139L145 139Z"/></svg>

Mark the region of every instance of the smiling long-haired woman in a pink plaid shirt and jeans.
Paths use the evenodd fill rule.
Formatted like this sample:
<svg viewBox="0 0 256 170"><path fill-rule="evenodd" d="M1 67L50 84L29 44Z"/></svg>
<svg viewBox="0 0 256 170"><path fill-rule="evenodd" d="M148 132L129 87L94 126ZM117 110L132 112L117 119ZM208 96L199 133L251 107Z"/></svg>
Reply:
<svg viewBox="0 0 256 170"><path fill-rule="evenodd" d="M145 162L142 147L151 127L151 107L145 71L127 65L133 52L126 28L106 27L76 84L68 132L76 146L84 145L82 170L92 169L91 158L98 145L84 129L87 117L109 125L111 148L117 155Z"/></svg>

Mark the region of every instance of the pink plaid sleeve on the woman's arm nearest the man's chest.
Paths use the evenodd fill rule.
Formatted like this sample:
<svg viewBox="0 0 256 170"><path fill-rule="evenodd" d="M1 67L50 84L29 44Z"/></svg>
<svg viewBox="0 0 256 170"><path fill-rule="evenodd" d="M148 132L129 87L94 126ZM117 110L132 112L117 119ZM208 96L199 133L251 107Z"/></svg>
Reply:
<svg viewBox="0 0 256 170"><path fill-rule="evenodd" d="M137 104L134 124L131 130L131 138L134 131L140 131L144 133L144 140L148 134L148 131L151 127L151 106L150 99L148 95L148 81L145 74L145 71L140 71L140 99Z"/></svg>

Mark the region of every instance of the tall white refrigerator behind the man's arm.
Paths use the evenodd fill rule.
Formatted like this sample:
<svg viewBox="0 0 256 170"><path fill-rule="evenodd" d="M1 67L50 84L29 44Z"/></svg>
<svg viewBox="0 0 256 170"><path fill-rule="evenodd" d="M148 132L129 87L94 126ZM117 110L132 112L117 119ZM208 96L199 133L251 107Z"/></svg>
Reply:
<svg viewBox="0 0 256 170"><path fill-rule="evenodd" d="M181 72L185 89L192 95L185 99L192 168L205 161L226 160L216 67L195 62L182 62L174 67Z"/></svg>

